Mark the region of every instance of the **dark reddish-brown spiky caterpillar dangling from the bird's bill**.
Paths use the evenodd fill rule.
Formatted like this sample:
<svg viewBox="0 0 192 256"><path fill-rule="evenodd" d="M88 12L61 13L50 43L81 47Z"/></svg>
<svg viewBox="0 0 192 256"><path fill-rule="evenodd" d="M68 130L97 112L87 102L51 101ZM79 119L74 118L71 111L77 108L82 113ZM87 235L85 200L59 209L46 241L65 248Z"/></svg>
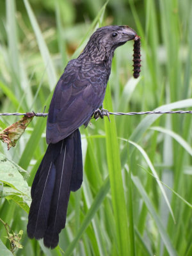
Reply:
<svg viewBox="0 0 192 256"><path fill-rule="evenodd" d="M141 38L140 36L136 35L134 37L134 49L133 49L133 77L138 78L141 72L141 54L140 54L140 47L141 47Z"/></svg>

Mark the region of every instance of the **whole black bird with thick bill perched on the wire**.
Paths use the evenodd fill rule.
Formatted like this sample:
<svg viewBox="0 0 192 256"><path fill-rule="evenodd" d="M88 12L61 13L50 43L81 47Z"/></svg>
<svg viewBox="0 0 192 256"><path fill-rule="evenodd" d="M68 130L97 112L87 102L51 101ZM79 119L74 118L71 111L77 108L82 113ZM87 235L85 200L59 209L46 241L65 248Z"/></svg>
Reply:
<svg viewBox="0 0 192 256"><path fill-rule="evenodd" d="M81 134L102 105L116 47L134 39L129 26L97 29L84 51L70 60L52 96L47 118L49 144L31 187L28 236L44 238L48 248L58 245L65 227L70 191L83 181Z"/></svg>

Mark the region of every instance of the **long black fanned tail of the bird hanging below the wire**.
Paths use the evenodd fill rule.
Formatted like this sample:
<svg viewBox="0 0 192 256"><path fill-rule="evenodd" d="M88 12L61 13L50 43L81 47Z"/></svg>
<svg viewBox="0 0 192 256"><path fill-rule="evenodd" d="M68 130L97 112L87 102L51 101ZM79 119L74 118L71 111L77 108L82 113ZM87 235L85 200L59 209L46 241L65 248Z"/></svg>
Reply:
<svg viewBox="0 0 192 256"><path fill-rule="evenodd" d="M31 188L28 236L54 248L65 227L70 191L83 181L81 134L79 129L56 144L50 143Z"/></svg>

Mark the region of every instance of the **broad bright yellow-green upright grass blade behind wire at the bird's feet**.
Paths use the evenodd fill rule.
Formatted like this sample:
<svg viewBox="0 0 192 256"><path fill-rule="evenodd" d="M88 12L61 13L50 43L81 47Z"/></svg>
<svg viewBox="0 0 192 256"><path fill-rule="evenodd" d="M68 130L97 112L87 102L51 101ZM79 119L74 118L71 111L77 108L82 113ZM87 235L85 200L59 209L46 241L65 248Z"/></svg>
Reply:
<svg viewBox="0 0 192 256"><path fill-rule="evenodd" d="M104 108L111 110L113 109L109 86L106 89ZM124 187L122 182L120 148L116 134L115 118L114 116L110 116L110 118L111 122L109 122L108 118L105 118L104 124L106 131L106 152L108 159L109 180L111 185L113 211L115 215L116 235L118 239L118 253L119 255L129 255L128 221Z"/></svg>

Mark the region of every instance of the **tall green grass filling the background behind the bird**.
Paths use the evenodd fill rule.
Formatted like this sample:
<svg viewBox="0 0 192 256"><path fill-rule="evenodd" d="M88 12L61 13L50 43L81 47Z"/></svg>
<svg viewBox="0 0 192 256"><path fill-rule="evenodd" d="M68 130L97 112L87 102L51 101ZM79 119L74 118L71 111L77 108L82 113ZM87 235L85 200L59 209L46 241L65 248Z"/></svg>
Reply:
<svg viewBox="0 0 192 256"><path fill-rule="evenodd" d="M1 113L40 112L45 105L48 109L52 89L67 61L78 56L95 28L108 24L110 12L118 24L125 17L135 24L141 36L142 68L140 79L133 79L133 42L116 50L104 108L124 112L192 108L191 1L130 0L127 4L118 1L118 6L113 1L96 2L94 6L84 2L84 12L93 20L79 24L70 23L74 9L64 2L71 17L63 17L65 8L59 1L49 8L42 1L46 10L53 10L54 22L46 15L41 22L32 1L17 5L6 1L0 24ZM17 8L20 15L15 15ZM124 10L122 19L118 10ZM191 117L111 116L111 123L104 118L92 120L87 129L81 127L83 186L70 195L67 225L60 234L60 247L54 250L26 235L30 198L25 180L31 186L46 150L46 118L33 118L15 148L7 151L1 143L1 153L12 163L0 163L0 182L4 182L0 218L16 234L24 230L24 248L15 255L190 256ZM18 119L1 116L1 129ZM12 164L13 170L8 168ZM9 182L3 175L13 175L13 171L18 172L19 186L17 180ZM0 255L12 255L4 247L9 248L5 236L0 223Z"/></svg>

